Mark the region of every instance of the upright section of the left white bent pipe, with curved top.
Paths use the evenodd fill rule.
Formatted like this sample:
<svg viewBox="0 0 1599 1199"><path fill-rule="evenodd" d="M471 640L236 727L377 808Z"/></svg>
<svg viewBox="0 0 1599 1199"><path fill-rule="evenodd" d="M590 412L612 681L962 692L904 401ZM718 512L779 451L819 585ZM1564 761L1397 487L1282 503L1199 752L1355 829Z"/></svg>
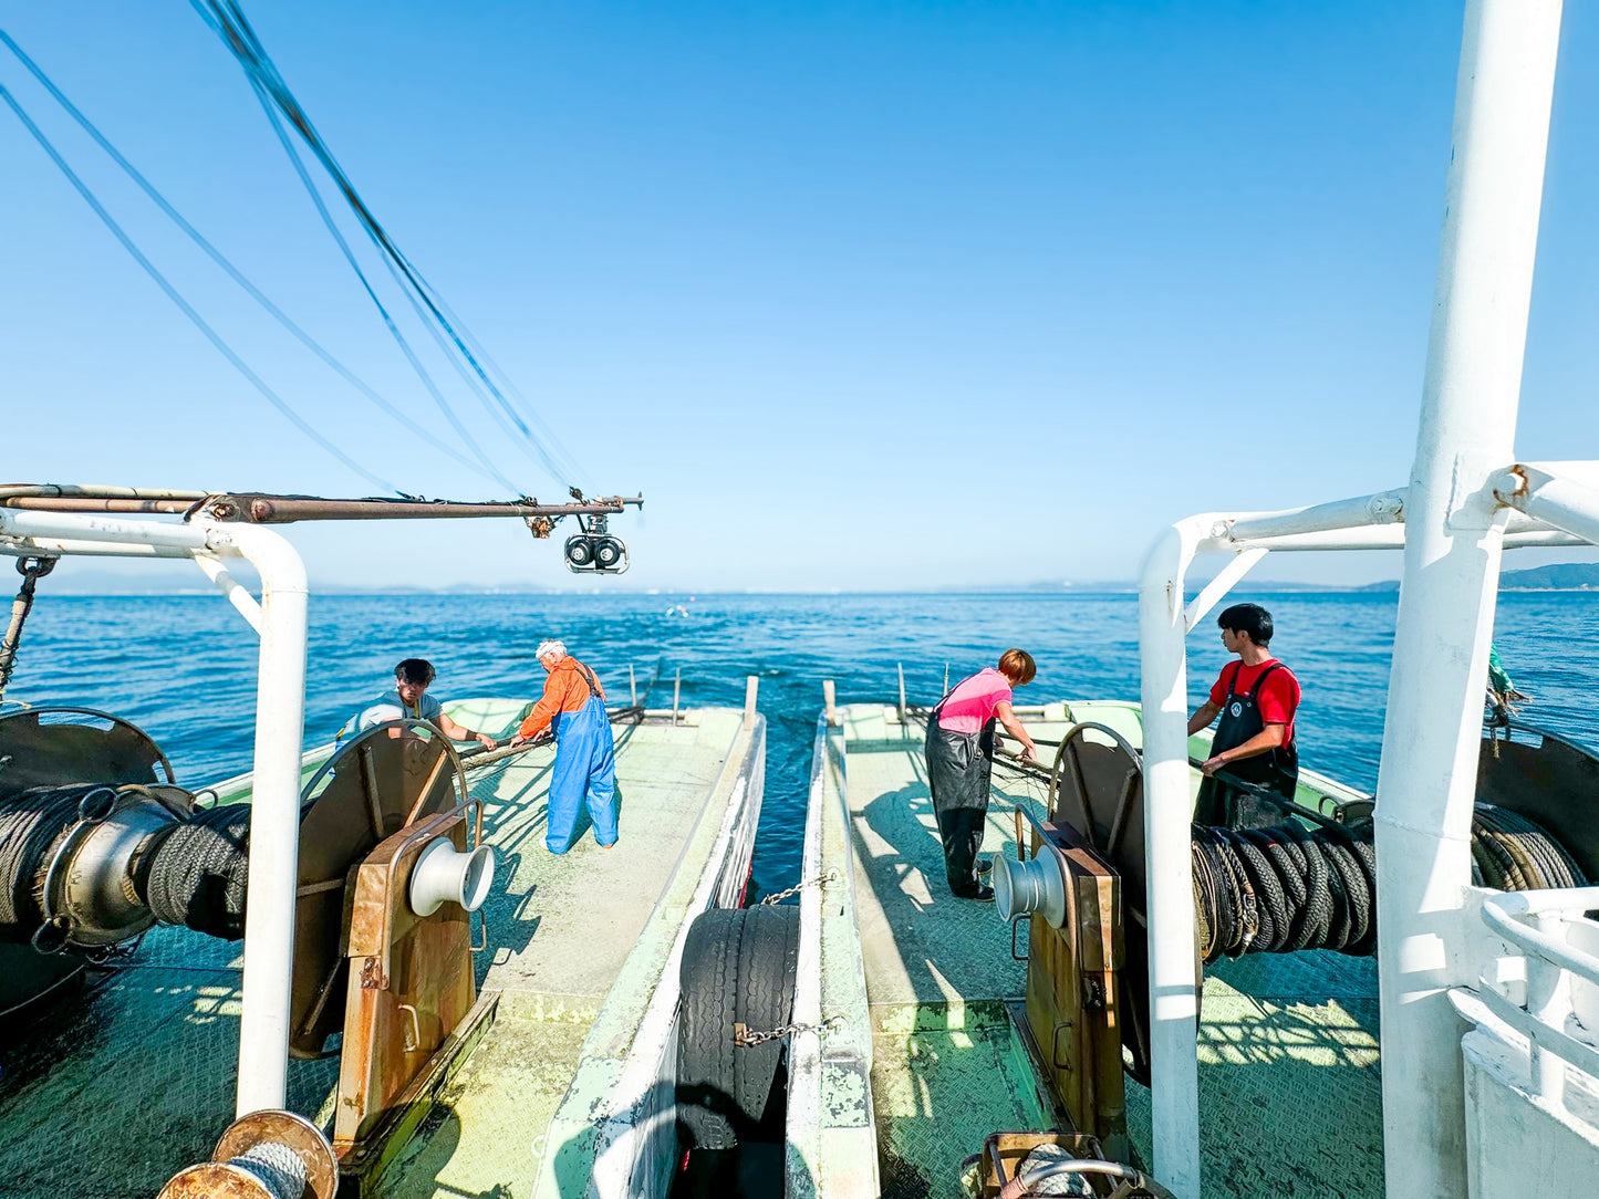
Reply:
<svg viewBox="0 0 1599 1199"><path fill-rule="evenodd" d="M243 1015L237 1114L281 1108L288 1085L294 887L299 876L301 742L305 732L305 566L283 537L256 526L216 531L213 547L261 572L261 673L249 812Z"/></svg>

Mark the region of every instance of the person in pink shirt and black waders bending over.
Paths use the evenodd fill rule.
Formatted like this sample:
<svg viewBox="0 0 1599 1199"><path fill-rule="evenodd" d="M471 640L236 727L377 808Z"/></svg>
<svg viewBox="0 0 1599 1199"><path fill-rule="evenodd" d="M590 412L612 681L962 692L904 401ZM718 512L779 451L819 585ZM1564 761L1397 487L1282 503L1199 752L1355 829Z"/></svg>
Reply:
<svg viewBox="0 0 1599 1199"><path fill-rule="evenodd" d="M988 779L995 756L995 723L1022 742L1023 761L1038 761L1038 747L1015 718L1011 695L1033 681L1033 655L1007 649L998 668L980 670L955 684L927 718L927 790L943 841L943 873L961 898L993 900L977 878L977 850L988 820Z"/></svg>

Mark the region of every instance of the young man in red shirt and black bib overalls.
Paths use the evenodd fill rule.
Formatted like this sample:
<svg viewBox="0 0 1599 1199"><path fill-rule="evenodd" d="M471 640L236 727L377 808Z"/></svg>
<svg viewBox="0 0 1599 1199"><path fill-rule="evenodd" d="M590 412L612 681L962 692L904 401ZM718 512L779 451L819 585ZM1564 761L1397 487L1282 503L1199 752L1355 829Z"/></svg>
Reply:
<svg viewBox="0 0 1599 1199"><path fill-rule="evenodd" d="M1194 823L1262 828L1282 823L1282 811L1230 780L1263 785L1284 799L1298 785L1298 748L1294 713L1300 686L1294 673L1271 657L1271 612L1260 604L1233 604L1220 617L1222 644L1238 654L1210 687L1210 699L1188 721L1188 734L1222 716L1210 756L1199 767Z"/></svg>

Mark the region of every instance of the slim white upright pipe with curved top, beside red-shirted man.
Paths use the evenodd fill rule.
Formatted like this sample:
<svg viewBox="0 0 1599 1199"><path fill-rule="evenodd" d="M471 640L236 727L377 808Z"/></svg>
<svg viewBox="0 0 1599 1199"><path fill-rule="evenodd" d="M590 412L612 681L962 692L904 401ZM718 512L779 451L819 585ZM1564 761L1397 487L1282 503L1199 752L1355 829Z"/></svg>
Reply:
<svg viewBox="0 0 1599 1199"><path fill-rule="evenodd" d="M1150 937L1150 1124L1154 1177L1199 1199L1199 1014L1188 825L1188 659L1183 576L1214 518L1167 529L1138 584L1143 707L1143 844Z"/></svg>

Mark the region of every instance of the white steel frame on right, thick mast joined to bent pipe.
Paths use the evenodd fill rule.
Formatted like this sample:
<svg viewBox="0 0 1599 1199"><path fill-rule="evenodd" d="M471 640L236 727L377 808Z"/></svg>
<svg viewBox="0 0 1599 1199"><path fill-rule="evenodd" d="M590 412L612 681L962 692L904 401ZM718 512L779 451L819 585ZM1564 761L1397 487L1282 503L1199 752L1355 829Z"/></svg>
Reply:
<svg viewBox="0 0 1599 1199"><path fill-rule="evenodd" d="M1599 537L1599 489L1501 465L1514 460L1559 24L1559 0L1466 5L1410 486L1290 513L1190 518L1162 534L1145 564L1154 1165L1185 1199L1199 1196L1199 1100L1183 636L1225 585L1185 607L1183 577L1206 548L1380 544L1402 544L1406 552L1375 814L1383 1127L1388 1145L1404 1146L1386 1156L1386 1189L1394 1199L1466 1194L1460 1026L1445 990L1471 982L1457 977L1463 954L1452 953L1450 942L1469 884L1500 555L1514 544ZM1541 528L1513 523L1505 505ZM1346 536L1350 526L1366 528ZM1258 560L1225 572L1228 582Z"/></svg>

